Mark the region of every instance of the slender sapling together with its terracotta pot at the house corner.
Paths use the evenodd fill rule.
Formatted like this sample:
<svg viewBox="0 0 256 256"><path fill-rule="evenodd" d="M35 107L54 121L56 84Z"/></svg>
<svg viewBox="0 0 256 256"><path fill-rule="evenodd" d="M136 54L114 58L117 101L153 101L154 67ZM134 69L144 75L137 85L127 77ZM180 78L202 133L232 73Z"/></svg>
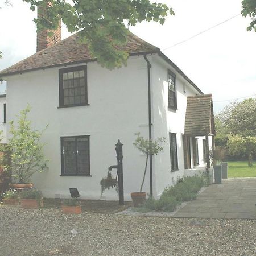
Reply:
<svg viewBox="0 0 256 256"><path fill-rule="evenodd" d="M131 193L131 199L133 200L133 205L134 207L138 207L139 205L142 205L144 201L146 201L146 193L142 192L142 188L143 188L146 171L147 171L148 156L154 155L154 154L157 155L159 152L162 152L163 147L160 146L160 143L165 142L165 139L164 137L162 137L162 138L158 138L156 141L150 141L149 139L144 139L140 133L135 133L135 135L137 135L137 138L133 143L134 146L138 148L139 151L141 151L143 154L146 155L146 164L144 168L144 175L142 179L141 188L139 189L139 192Z"/></svg>

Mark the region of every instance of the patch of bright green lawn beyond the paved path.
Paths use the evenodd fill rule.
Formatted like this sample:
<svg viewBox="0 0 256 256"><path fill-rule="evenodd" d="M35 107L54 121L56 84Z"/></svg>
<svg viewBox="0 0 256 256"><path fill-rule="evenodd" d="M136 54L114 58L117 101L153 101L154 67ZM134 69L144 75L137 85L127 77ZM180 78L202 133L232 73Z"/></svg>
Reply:
<svg viewBox="0 0 256 256"><path fill-rule="evenodd" d="M253 167L248 167L246 161L228 162L228 177L256 177L256 162Z"/></svg>

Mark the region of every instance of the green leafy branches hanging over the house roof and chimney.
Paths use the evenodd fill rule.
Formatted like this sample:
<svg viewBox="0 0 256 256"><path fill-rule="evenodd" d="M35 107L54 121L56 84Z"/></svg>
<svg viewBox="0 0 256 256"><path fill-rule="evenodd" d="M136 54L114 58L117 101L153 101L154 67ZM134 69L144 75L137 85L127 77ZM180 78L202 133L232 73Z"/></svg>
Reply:
<svg viewBox="0 0 256 256"><path fill-rule="evenodd" d="M49 0L22 0L30 3L30 9L46 6ZM144 20L163 24L168 14L174 15L172 8L150 0L51 0L46 16L35 19L38 30L55 30L59 18L69 32L80 32L81 42L87 43L90 53L102 66L112 69L126 64L128 53L120 46L126 44L125 24L135 26Z"/></svg>

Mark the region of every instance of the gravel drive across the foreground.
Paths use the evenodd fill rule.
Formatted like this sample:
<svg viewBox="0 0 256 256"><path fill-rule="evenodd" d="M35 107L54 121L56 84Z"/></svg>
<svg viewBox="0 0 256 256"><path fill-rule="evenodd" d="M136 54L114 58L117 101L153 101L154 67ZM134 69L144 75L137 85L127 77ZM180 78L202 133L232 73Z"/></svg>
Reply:
<svg viewBox="0 0 256 256"><path fill-rule="evenodd" d="M79 233L72 234L75 229ZM256 255L255 220L203 220L0 205L0 255Z"/></svg>

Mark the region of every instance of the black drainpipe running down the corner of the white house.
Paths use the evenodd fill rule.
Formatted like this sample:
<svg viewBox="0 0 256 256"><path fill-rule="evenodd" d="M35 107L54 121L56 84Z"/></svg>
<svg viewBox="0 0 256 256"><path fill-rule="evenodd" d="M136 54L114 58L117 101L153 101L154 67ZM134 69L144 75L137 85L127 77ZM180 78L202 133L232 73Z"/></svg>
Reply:
<svg viewBox="0 0 256 256"><path fill-rule="evenodd" d="M148 138L152 141L152 122L151 122L151 92L150 92L150 68L151 64L147 59L147 55L144 55L144 59L147 62L147 88L148 88ZM152 175L152 155L149 155L150 158L150 195L153 196L153 175Z"/></svg>

